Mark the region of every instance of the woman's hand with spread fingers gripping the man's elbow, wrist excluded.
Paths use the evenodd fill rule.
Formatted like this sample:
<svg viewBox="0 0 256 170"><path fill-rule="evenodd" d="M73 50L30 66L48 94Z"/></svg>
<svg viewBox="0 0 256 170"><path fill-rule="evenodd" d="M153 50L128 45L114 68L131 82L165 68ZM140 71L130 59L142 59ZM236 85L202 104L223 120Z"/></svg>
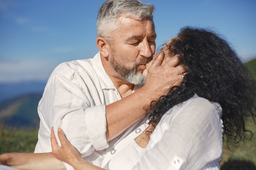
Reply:
<svg viewBox="0 0 256 170"><path fill-rule="evenodd" d="M65 134L61 128L58 128L58 137L61 141L61 146L58 145L57 139L54 134L54 130L52 127L51 130L51 142L52 142L52 153L55 157L63 162L66 162L70 165L77 162L81 159L78 150L65 137Z"/></svg>

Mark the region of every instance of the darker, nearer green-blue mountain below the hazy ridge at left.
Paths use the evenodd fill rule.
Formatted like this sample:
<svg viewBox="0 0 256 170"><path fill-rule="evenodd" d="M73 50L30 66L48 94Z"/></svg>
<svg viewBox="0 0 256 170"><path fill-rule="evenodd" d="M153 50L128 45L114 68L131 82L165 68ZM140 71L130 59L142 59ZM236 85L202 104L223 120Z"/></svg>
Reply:
<svg viewBox="0 0 256 170"><path fill-rule="evenodd" d="M0 103L0 128L35 128L39 126L38 102L42 94L25 94Z"/></svg>

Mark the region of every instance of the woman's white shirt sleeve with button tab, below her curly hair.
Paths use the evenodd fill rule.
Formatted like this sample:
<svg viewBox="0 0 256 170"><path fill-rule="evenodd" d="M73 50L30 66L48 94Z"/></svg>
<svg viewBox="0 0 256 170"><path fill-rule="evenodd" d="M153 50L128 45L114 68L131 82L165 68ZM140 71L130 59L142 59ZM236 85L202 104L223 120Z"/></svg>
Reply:
<svg viewBox="0 0 256 170"><path fill-rule="evenodd" d="M168 111L175 114L171 119L168 115L162 117L150 136L153 141L161 139L151 144L152 148L150 139L149 149L132 170L219 169L218 160L222 154L220 106L202 98L182 105L183 109L176 108ZM160 131L162 136L158 136Z"/></svg>

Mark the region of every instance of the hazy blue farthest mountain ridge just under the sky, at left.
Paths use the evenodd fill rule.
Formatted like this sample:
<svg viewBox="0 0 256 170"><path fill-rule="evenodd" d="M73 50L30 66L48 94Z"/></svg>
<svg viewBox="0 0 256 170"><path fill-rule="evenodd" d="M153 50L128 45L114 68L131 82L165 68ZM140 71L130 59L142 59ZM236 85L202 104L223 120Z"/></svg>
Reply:
<svg viewBox="0 0 256 170"><path fill-rule="evenodd" d="M46 82L18 82L18 83L0 83L0 102L23 95L27 93L41 93L45 89Z"/></svg>

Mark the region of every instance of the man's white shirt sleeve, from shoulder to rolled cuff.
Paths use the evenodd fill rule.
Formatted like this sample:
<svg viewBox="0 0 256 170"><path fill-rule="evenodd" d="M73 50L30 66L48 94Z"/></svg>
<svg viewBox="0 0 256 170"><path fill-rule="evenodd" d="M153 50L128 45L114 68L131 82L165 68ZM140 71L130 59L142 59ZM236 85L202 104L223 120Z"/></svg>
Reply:
<svg viewBox="0 0 256 170"><path fill-rule="evenodd" d="M100 101L96 86L90 76L81 78L76 72L70 78L58 73L50 77L38 105L40 128L35 152L52 151L52 126L56 137L58 127L64 130L81 157L108 147L106 105ZM57 140L60 144L58 137Z"/></svg>

